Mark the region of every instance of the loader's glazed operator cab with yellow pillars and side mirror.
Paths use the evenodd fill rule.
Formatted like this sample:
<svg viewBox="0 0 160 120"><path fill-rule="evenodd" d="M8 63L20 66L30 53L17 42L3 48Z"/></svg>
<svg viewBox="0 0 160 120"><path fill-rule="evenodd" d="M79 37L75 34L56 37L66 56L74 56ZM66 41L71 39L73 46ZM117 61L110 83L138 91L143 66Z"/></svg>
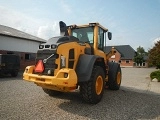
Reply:
<svg viewBox="0 0 160 120"><path fill-rule="evenodd" d="M108 29L102 27L99 23L89 23L89 25L82 26L73 25L68 27L71 36L77 37L81 42L90 44L91 47L104 51ZM112 34L108 32L109 40L111 40L111 37Z"/></svg>

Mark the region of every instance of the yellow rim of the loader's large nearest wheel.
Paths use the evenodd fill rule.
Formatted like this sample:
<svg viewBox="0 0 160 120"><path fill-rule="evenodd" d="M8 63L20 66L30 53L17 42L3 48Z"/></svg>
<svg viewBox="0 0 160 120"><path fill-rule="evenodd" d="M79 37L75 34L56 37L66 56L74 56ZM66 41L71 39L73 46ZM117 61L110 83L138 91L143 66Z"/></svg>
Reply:
<svg viewBox="0 0 160 120"><path fill-rule="evenodd" d="M103 88L103 78L102 76L98 76L96 80L96 93L97 95L101 94Z"/></svg>

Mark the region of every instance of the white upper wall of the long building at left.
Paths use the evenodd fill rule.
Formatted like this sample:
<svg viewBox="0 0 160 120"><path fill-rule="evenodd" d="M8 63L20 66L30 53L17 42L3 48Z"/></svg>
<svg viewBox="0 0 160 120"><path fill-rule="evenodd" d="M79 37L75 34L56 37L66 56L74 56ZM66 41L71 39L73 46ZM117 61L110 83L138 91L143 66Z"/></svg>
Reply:
<svg viewBox="0 0 160 120"><path fill-rule="evenodd" d="M40 42L0 35L0 50L36 53Z"/></svg>

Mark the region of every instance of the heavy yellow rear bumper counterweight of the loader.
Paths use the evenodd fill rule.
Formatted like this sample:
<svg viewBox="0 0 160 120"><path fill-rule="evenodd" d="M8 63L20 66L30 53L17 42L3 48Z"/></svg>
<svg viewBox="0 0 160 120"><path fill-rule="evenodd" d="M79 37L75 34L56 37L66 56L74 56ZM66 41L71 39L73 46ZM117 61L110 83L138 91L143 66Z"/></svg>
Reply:
<svg viewBox="0 0 160 120"><path fill-rule="evenodd" d="M77 75L73 69L60 69L56 76L46 76L33 74L34 66L28 66L23 73L23 79L34 82L44 88L68 92L77 87ZM68 74L67 78L64 78L64 73Z"/></svg>

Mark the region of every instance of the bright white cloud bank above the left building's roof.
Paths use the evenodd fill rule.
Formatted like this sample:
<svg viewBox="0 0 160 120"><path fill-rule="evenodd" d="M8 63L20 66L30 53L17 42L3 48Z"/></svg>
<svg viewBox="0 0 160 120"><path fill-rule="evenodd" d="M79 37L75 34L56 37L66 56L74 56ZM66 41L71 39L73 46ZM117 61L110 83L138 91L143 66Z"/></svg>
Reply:
<svg viewBox="0 0 160 120"><path fill-rule="evenodd" d="M59 34L58 22L36 19L21 12L0 6L0 24L9 26L34 36L49 39Z"/></svg>

